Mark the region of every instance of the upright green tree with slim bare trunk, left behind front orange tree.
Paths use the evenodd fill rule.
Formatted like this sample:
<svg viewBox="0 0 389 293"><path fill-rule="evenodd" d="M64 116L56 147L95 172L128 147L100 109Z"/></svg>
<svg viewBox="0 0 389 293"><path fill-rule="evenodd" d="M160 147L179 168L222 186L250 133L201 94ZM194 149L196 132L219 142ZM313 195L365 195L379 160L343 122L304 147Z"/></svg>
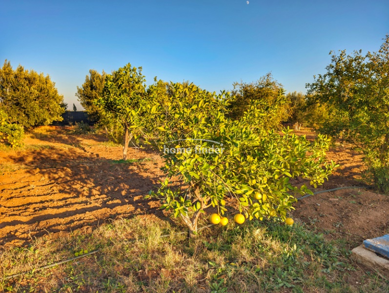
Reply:
<svg viewBox="0 0 389 293"><path fill-rule="evenodd" d="M105 78L103 95L96 105L103 111L104 119L112 124L118 123L124 128L123 158L127 159L128 144L137 138L137 125L143 116L143 104L146 103L145 78L142 68L127 64Z"/></svg>

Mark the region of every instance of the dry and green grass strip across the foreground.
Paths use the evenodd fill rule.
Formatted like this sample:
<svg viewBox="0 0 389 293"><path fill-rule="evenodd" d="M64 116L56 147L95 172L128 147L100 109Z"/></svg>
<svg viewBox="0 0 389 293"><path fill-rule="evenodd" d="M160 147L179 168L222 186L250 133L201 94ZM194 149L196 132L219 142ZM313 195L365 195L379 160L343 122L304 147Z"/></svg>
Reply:
<svg viewBox="0 0 389 293"><path fill-rule="evenodd" d="M4 248L5 291L72 292L384 292L389 282L348 260L342 242L328 242L305 225L277 221L204 229L196 239L167 221L115 220L92 233L75 231L29 248ZM166 237L164 237L166 236ZM99 252L31 273L80 251ZM358 271L359 270L359 271ZM353 283L350 276L353 275ZM359 276L355 284L355 275Z"/></svg>

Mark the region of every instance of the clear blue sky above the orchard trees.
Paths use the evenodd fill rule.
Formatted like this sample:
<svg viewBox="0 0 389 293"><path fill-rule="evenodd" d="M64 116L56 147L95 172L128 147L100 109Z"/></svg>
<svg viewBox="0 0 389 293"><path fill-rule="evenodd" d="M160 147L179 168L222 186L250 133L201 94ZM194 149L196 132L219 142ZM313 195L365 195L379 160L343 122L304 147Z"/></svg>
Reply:
<svg viewBox="0 0 389 293"><path fill-rule="evenodd" d="M267 72L303 91L330 50L377 51L389 1L0 0L0 62L49 74L69 107L89 69L142 66L147 84L232 89Z"/></svg>

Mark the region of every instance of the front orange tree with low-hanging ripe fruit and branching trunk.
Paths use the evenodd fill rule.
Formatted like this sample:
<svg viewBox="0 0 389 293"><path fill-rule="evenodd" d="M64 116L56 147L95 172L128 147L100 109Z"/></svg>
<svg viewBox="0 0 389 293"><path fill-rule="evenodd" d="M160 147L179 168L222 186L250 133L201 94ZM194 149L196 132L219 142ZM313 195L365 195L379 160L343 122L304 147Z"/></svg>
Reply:
<svg viewBox="0 0 389 293"><path fill-rule="evenodd" d="M147 197L161 199L162 208L181 217L191 236L207 208L227 211L226 196L235 198L240 213L250 220L285 220L294 195L312 193L290 180L302 177L316 187L336 167L325 161L325 136L311 143L289 129L267 131L261 123L268 114L255 101L240 120L232 121L226 118L233 99L228 93L216 95L193 84L172 84L170 89L170 95L148 105L141 126L146 136L154 137L149 142L166 162L165 181ZM173 177L183 184L173 184Z"/></svg>

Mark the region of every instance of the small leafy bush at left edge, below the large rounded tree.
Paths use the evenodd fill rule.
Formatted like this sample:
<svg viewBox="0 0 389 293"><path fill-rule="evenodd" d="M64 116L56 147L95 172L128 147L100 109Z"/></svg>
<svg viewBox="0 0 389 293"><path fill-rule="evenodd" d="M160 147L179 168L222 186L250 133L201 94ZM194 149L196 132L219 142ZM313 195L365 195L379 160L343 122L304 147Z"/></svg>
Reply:
<svg viewBox="0 0 389 293"><path fill-rule="evenodd" d="M0 142L17 147L21 144L23 136L23 127L15 123L9 123L8 115L0 108Z"/></svg>

